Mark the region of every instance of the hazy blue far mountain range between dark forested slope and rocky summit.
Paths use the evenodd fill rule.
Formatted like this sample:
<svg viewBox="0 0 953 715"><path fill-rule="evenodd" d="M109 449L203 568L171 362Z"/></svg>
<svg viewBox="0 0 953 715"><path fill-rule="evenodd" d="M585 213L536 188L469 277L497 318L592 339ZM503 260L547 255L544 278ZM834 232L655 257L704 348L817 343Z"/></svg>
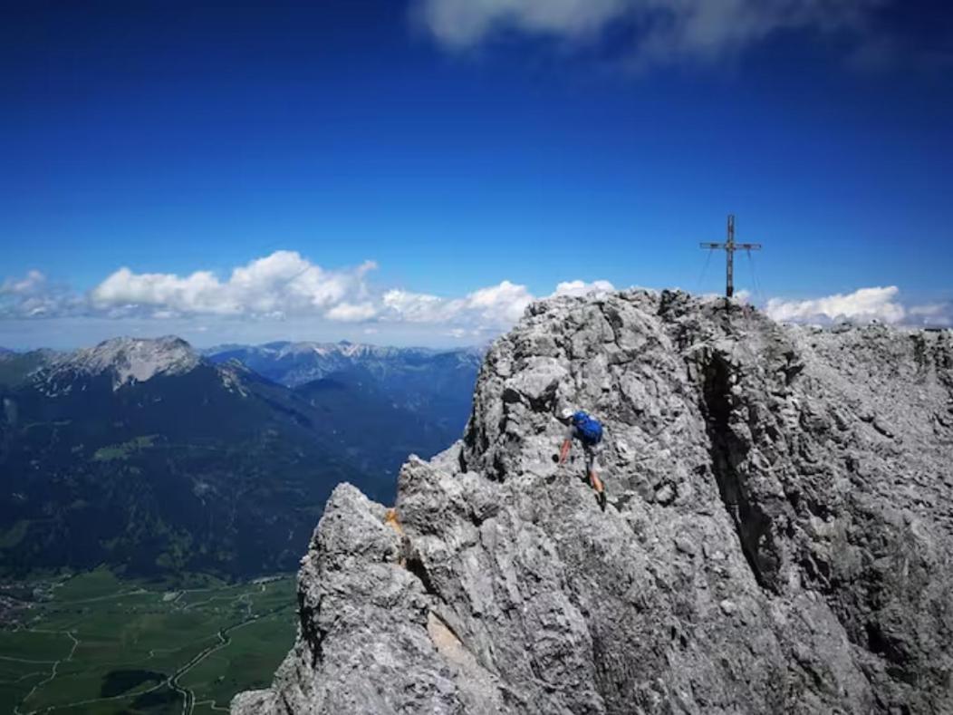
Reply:
<svg viewBox="0 0 953 715"><path fill-rule="evenodd" d="M440 351L347 340L223 345L203 353L216 364L237 360L293 388L319 411L321 429L349 459L384 475L394 489L408 454L436 454L460 436L483 356L476 348Z"/></svg>

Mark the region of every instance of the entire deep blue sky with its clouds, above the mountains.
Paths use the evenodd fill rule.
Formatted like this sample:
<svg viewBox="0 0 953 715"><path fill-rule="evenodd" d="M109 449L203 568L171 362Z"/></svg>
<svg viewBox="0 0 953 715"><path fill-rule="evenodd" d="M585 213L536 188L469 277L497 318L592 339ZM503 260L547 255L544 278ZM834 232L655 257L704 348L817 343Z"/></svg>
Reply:
<svg viewBox="0 0 953 715"><path fill-rule="evenodd" d="M0 345L478 341L567 281L719 291L729 212L779 317L953 317L940 3L23 5Z"/></svg>

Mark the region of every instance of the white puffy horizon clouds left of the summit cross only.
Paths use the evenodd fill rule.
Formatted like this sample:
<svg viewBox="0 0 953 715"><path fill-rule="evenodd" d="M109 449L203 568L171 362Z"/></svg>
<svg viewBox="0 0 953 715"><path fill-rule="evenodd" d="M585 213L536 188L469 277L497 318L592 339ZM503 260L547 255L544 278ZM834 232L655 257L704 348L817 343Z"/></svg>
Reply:
<svg viewBox="0 0 953 715"><path fill-rule="evenodd" d="M503 280L465 296L434 296L402 288L375 289L373 261L327 270L294 251L278 251L234 268L227 279L209 271L188 275L120 268L85 295L53 289L37 271L0 283L0 318L106 317L188 320L242 317L318 318L335 323L435 326L440 335L485 337L511 327L536 299L525 285ZM553 296L610 291L597 280L559 283Z"/></svg>

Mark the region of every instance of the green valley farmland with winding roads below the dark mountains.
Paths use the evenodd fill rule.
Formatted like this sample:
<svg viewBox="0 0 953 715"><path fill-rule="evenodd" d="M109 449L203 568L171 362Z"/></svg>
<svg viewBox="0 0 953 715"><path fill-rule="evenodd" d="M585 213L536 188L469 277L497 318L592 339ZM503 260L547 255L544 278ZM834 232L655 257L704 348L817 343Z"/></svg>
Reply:
<svg viewBox="0 0 953 715"><path fill-rule="evenodd" d="M106 569L52 582L0 629L0 712L228 710L294 643L294 576L170 589Z"/></svg>

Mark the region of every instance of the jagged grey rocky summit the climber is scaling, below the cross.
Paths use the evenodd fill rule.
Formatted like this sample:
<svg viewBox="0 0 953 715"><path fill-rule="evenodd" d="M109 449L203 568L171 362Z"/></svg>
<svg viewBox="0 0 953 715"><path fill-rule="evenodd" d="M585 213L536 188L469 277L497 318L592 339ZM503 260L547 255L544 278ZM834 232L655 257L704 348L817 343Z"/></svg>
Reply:
<svg viewBox="0 0 953 715"><path fill-rule="evenodd" d="M565 407L602 419L600 511ZM245 713L953 712L953 336L536 303L393 509L342 484Z"/></svg>

